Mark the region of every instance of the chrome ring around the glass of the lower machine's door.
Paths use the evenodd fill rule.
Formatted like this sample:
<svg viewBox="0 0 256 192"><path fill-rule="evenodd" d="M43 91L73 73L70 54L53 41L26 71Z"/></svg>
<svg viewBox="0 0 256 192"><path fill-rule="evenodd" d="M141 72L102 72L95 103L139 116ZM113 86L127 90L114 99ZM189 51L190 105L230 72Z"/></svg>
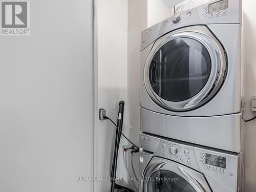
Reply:
<svg viewBox="0 0 256 192"><path fill-rule="evenodd" d="M142 192L147 192L148 180L154 173L160 170L173 172L186 180L197 192L212 192L204 176L195 170L179 163L153 157L150 164L145 168L141 181Z"/></svg>

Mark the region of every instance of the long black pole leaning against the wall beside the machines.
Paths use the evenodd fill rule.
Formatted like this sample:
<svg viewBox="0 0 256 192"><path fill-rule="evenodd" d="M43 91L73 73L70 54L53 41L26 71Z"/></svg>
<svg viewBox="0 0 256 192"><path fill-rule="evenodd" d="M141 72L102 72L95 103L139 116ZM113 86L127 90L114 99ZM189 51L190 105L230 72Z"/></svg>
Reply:
<svg viewBox="0 0 256 192"><path fill-rule="evenodd" d="M119 102L119 110L118 110L118 118L117 118L117 128L116 128L116 140L115 140L115 150L114 150L114 158L111 169L111 192L115 191L115 178L116 178L116 168L117 168L117 157L118 157L118 149L120 144L120 138L123 127L123 109L124 109L124 101Z"/></svg>

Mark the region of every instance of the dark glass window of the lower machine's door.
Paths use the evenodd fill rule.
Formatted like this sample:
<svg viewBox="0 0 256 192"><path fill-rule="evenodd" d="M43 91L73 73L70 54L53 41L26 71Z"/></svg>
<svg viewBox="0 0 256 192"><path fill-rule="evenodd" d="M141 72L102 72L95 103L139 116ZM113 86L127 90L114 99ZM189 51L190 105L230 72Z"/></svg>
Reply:
<svg viewBox="0 0 256 192"><path fill-rule="evenodd" d="M184 178L169 170L158 170L147 183L147 192L197 192Z"/></svg>

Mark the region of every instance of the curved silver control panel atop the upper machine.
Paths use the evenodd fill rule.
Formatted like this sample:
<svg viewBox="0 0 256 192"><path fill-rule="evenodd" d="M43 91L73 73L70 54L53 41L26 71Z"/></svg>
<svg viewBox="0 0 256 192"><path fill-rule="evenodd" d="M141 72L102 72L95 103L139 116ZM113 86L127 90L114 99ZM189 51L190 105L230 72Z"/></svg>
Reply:
<svg viewBox="0 0 256 192"><path fill-rule="evenodd" d="M188 26L241 24L241 0L214 0L172 15L142 31L141 51L164 34ZM225 32L225 31L223 31Z"/></svg>

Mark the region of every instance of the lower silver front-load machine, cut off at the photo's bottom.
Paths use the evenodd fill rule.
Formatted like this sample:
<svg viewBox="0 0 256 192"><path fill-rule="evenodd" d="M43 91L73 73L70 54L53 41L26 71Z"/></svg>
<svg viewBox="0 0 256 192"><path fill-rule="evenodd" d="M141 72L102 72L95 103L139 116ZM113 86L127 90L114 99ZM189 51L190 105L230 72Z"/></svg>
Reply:
<svg viewBox="0 0 256 192"><path fill-rule="evenodd" d="M140 192L242 192L243 154L140 134Z"/></svg>

